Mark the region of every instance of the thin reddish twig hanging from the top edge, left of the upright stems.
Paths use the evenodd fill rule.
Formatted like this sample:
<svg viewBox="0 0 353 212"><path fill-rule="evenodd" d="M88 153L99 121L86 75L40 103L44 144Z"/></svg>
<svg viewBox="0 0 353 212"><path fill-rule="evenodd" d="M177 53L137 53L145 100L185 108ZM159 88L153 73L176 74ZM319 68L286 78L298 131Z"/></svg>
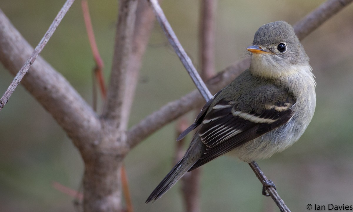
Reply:
<svg viewBox="0 0 353 212"><path fill-rule="evenodd" d="M96 39L95 39L94 32L93 32L91 17L89 14L87 0L81 0L81 7L82 7L83 18L85 20L85 26L86 26L86 31L87 31L87 35L88 35L88 40L89 40L89 43L91 46L93 58L96 62L96 67L94 68L94 75L95 75L97 82L99 84L99 88L101 90L102 97L105 100L107 98L107 89L106 89L106 85L105 85L104 77L103 77L104 63L103 63L101 55L99 54L99 51L98 51ZM94 83L95 83L95 81L94 81Z"/></svg>

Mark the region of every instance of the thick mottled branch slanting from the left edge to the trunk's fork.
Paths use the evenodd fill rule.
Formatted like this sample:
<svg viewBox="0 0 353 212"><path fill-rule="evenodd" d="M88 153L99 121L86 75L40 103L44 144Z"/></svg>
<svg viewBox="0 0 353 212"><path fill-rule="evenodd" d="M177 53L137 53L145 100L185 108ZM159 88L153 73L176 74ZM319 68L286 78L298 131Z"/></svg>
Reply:
<svg viewBox="0 0 353 212"><path fill-rule="evenodd" d="M32 52L33 48L0 10L1 63L15 75ZM42 57L37 58L21 83L52 114L79 149L95 140L94 135L101 128L98 117L70 83Z"/></svg>

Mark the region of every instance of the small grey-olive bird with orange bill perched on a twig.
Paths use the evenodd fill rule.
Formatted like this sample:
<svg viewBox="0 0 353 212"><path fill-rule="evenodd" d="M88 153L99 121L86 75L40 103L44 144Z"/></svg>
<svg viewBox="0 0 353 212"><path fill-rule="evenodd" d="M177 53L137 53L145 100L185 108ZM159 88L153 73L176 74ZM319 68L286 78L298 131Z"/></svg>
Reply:
<svg viewBox="0 0 353 212"><path fill-rule="evenodd" d="M247 47L250 67L216 93L177 141L196 129L189 148L146 200L155 202L186 172L223 155L251 163L291 146L309 125L316 82L293 27L262 25Z"/></svg>

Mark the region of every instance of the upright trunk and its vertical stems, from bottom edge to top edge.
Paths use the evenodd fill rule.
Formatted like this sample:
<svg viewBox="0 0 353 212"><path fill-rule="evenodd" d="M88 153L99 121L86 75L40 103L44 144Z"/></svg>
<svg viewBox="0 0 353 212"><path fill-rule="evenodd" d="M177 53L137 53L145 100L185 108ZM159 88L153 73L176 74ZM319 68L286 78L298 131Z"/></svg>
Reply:
<svg viewBox="0 0 353 212"><path fill-rule="evenodd" d="M122 210L120 173L128 152L125 130L154 20L149 13L150 9L142 1L120 1L112 73L101 119L102 139L93 156L85 160L85 211Z"/></svg>

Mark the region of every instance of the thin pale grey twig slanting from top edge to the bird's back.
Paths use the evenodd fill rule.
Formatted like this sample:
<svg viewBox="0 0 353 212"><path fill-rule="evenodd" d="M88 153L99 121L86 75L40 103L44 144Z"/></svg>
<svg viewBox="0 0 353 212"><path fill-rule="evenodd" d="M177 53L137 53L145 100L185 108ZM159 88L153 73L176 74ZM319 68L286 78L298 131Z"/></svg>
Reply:
<svg viewBox="0 0 353 212"><path fill-rule="evenodd" d="M163 29L164 34L166 35L170 44L173 46L174 51L177 53L179 59L181 60L181 63L183 63L186 71L189 73L192 81L195 83L197 89L199 89L203 98L208 101L209 99L212 98L212 94L207 89L205 83L202 81L202 79L201 79L200 75L197 73L195 67L192 65L191 59L184 51L184 48L181 46L172 27L170 27L170 24L169 24L166 16L163 13L161 6L158 4L158 1L157 0L148 0L148 1L150 2L152 10L155 13L155 16L156 16L159 24L161 25L161 28Z"/></svg>

